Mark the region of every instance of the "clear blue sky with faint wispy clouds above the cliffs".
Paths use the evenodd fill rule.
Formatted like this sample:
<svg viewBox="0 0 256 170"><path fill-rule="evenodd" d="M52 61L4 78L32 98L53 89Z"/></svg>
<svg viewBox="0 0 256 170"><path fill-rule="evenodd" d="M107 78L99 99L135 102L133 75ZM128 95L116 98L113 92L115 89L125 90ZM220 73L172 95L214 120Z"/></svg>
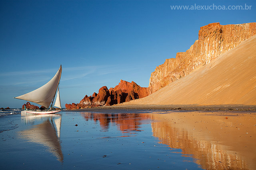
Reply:
<svg viewBox="0 0 256 170"><path fill-rule="evenodd" d="M251 10L172 10L171 5ZM78 103L120 79L148 87L151 72L198 39L201 26L256 21L254 1L1 0L0 107L48 82L62 64L60 97Z"/></svg>

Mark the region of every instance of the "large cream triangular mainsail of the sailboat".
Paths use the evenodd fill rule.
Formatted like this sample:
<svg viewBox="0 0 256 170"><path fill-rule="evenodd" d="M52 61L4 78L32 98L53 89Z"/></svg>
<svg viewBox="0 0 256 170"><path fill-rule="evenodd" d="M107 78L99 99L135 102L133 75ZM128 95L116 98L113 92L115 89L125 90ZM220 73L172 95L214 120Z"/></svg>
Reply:
<svg viewBox="0 0 256 170"><path fill-rule="evenodd" d="M41 106L48 108L52 102L52 99L56 94L56 90L60 82L61 72L62 72L62 67L60 65L59 70L48 83L44 84L44 86L32 92L26 93L22 96L18 96L16 97L16 99L22 99L29 102L34 102L36 104L39 104Z"/></svg>

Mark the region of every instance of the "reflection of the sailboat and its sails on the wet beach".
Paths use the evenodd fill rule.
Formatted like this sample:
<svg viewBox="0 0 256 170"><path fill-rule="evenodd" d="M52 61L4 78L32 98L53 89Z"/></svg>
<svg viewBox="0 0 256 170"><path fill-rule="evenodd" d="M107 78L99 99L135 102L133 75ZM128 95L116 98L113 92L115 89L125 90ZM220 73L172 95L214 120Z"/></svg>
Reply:
<svg viewBox="0 0 256 170"><path fill-rule="evenodd" d="M32 117L31 117L32 116ZM61 117L53 115L28 115L26 121L44 119L43 123L34 125L31 129L20 131L20 137L28 142L38 143L47 147L47 151L56 156L57 160L63 161L63 154L60 145ZM54 121L53 121L54 119ZM55 124L55 127L54 127Z"/></svg>

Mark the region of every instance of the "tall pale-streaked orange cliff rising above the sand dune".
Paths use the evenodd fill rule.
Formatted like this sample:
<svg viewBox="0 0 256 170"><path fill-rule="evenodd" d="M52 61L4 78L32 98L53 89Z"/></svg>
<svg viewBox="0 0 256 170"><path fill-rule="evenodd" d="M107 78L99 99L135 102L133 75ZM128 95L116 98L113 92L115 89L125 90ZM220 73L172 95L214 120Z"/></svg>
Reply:
<svg viewBox="0 0 256 170"><path fill-rule="evenodd" d="M176 59L166 59L156 67L149 80L150 94L182 78L198 66L210 63L220 54L229 51L242 41L256 35L256 23L220 25L210 23L200 27L198 40L186 52L176 54Z"/></svg>

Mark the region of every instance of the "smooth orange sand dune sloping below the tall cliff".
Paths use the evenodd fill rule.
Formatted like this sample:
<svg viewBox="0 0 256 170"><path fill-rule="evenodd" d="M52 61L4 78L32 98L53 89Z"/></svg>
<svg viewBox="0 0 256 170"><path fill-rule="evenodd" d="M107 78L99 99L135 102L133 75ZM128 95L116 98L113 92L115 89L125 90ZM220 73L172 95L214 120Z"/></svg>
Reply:
<svg viewBox="0 0 256 170"><path fill-rule="evenodd" d="M157 92L124 103L256 105L256 35Z"/></svg>

